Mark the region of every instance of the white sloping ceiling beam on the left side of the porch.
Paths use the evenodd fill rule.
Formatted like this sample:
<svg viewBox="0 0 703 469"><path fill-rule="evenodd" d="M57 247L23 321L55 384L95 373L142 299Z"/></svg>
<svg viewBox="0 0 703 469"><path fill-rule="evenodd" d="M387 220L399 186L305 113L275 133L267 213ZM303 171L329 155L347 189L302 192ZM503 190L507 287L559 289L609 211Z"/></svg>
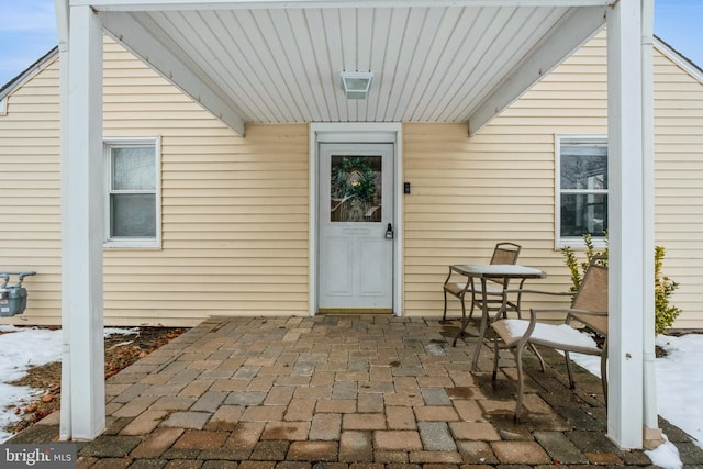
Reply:
<svg viewBox="0 0 703 469"><path fill-rule="evenodd" d="M237 107L190 60L179 57L172 46L167 47L130 13L100 14L104 30L137 57L158 71L164 78L199 102L215 118L244 136L244 120Z"/></svg>

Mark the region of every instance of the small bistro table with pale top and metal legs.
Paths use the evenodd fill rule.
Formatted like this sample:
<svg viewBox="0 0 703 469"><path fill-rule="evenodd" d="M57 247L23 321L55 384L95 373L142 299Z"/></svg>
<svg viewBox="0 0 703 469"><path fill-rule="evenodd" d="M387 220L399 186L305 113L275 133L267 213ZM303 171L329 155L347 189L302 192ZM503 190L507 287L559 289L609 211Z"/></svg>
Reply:
<svg viewBox="0 0 703 469"><path fill-rule="evenodd" d="M479 354L481 351L481 347L483 346L483 340L486 339L486 330L488 328L488 322L490 320L489 316L489 308L488 308L488 295L491 294L487 290L487 280L506 280L506 279L520 279L520 288L523 287L523 283L527 279L544 279L547 277L545 272L539 269L535 269L532 267L518 266L515 264L486 264L486 265L455 265L450 266L450 269L459 275L466 276L468 281L475 282L476 280L480 280L481 282L481 325L479 326L479 340L473 350L473 358L471 359L471 371L476 370L476 366L479 361ZM479 292L477 292L478 294ZM494 294L494 293L493 293ZM505 305L505 290L503 290L503 308ZM500 313L499 313L500 315ZM469 321L465 316L461 317L461 327L459 328L459 334L457 338L459 338ZM456 339L454 340L456 345Z"/></svg>

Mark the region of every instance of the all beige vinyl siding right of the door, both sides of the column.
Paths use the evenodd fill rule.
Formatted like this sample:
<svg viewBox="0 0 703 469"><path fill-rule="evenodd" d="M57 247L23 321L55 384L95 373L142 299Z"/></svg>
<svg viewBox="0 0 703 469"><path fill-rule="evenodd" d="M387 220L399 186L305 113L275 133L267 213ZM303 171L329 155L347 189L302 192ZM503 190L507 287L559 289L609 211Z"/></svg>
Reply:
<svg viewBox="0 0 703 469"><path fill-rule="evenodd" d="M701 74L703 75L703 74ZM466 125L406 124L406 314L440 315L449 264L486 263L496 242L543 268L534 287L566 291L555 249L555 136L606 135L606 51L600 34L476 136ZM655 51L656 244L679 282L680 328L703 327L703 85ZM533 304L546 304L544 302ZM533 305L528 304L528 305ZM449 315L460 314L449 299Z"/></svg>

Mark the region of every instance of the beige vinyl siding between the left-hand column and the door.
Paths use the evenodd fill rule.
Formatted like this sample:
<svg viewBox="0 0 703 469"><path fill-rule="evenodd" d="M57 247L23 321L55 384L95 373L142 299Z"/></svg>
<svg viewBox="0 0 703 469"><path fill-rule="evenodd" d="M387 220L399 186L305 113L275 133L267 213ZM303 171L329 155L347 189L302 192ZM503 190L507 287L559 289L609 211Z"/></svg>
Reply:
<svg viewBox="0 0 703 469"><path fill-rule="evenodd" d="M160 137L163 212L160 250L105 250L105 316L308 314L308 125L242 138L111 42L104 94L105 137Z"/></svg>

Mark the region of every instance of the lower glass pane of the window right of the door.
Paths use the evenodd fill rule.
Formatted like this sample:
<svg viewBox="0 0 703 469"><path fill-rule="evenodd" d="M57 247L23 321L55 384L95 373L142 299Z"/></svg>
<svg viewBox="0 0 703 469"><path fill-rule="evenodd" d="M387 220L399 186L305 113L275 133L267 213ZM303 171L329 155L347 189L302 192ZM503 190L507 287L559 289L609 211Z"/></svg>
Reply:
<svg viewBox="0 0 703 469"><path fill-rule="evenodd" d="M607 196L600 193L561 194L561 236L603 237L607 230Z"/></svg>

